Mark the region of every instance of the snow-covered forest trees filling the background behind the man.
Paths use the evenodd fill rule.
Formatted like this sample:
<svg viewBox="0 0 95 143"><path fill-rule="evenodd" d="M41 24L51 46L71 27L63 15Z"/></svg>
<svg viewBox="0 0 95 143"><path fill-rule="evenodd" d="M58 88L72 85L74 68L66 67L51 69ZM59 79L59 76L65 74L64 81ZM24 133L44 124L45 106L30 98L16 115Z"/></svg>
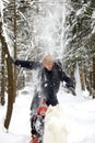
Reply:
<svg viewBox="0 0 95 143"><path fill-rule="evenodd" d="M31 70L16 68L16 59L41 61L46 53L61 59L72 77L80 70L81 89L95 98L95 1L0 0L0 103L8 110L9 129L19 89L32 82Z"/></svg>

